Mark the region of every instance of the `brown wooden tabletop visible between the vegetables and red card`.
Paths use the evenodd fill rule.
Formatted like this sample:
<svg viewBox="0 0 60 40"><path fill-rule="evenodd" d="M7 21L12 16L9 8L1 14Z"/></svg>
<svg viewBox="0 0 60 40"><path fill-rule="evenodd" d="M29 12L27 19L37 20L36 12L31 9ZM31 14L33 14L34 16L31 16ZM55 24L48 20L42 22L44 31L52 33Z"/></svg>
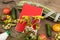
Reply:
<svg viewBox="0 0 60 40"><path fill-rule="evenodd" d="M15 3L11 3L11 4L3 4L2 3L2 1L10 1L10 0L0 0L0 13L2 14L2 10L3 10L3 8L4 7L13 7L13 6L15 6ZM20 0L14 0L15 2L18 2L18 1L20 1ZM27 1L27 0L26 0ZM31 1L33 1L33 2L37 2L37 0L31 0ZM53 10L55 10L55 11L57 11L57 12L60 12L60 0L38 0L38 2L39 3L41 3L41 4L43 4L43 5L45 5L45 6L47 6L47 7L49 7L49 8L51 8L51 9L53 9ZM40 34L40 33L45 33L45 24L46 23L49 23L49 24L51 24L51 26L54 24L54 22L52 22L52 21L49 21L49 20L46 20L46 19L44 19L44 20L41 20L41 27L40 27L40 29L39 29L39 31L38 31L38 33ZM2 31L2 32L4 32L5 30L2 28L2 26L0 26L0 31ZM22 40L23 39L23 34L22 34L22 36L20 35L21 33L18 33L16 30L15 30L15 27L12 27L11 29L10 29L10 31L11 31L11 36L10 37L8 37L8 39L7 40ZM54 38L54 34L55 34L55 32L53 32L52 33L52 36L53 36L53 38ZM20 36L18 39L16 38L17 36ZM53 39L54 40L54 39Z"/></svg>

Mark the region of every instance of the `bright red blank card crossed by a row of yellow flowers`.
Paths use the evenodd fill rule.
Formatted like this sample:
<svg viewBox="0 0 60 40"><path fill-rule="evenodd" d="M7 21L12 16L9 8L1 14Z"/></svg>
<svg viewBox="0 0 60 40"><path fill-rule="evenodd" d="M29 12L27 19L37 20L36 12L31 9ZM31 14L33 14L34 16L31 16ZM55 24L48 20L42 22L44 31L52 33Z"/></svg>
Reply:
<svg viewBox="0 0 60 40"><path fill-rule="evenodd" d="M22 8L22 12L19 16L19 19L22 18L22 16L41 16L42 15L42 8L36 7L36 6L32 6L30 4L24 4L23 8ZM18 23L16 25L16 30L18 32L23 32L25 29L27 23L25 23L25 25Z"/></svg>

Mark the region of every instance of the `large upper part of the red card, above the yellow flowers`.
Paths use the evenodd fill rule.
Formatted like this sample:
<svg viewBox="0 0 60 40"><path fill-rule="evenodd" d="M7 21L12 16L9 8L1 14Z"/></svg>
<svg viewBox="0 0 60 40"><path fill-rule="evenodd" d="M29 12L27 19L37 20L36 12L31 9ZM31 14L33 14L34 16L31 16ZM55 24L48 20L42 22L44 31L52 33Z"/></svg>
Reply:
<svg viewBox="0 0 60 40"><path fill-rule="evenodd" d="M32 6L30 4L24 4L19 17L21 18L22 16L40 16L42 15L42 11L42 8Z"/></svg>

